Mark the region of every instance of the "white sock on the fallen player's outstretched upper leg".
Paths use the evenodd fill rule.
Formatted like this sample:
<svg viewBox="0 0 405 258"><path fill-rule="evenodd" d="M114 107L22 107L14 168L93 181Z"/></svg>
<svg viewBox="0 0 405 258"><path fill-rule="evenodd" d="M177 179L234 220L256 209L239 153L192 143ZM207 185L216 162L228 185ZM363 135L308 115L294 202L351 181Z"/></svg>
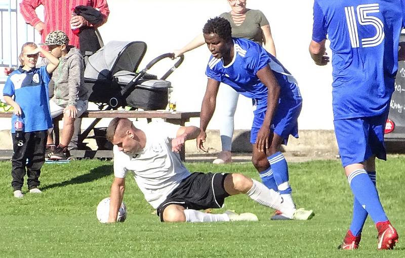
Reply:
<svg viewBox="0 0 405 258"><path fill-rule="evenodd" d="M284 203L284 200L281 198L281 195L272 189L268 189L262 183L252 179L253 186L246 193L252 200L273 208L280 210L288 218L293 218L295 207L292 207L291 204Z"/></svg>

